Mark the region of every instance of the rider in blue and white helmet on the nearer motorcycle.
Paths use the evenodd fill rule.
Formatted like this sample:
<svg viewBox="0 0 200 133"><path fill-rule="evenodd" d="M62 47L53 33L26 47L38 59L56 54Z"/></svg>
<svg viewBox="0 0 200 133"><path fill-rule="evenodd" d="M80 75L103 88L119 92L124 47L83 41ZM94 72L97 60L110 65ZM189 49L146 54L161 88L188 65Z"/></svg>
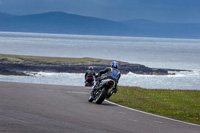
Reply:
<svg viewBox="0 0 200 133"><path fill-rule="evenodd" d="M111 62L111 67L107 67L104 70L99 71L98 77L96 78L96 84L92 88L91 95L93 96L93 91L94 89L96 89L97 86L99 86L101 80L108 79L108 78L113 79L115 81L115 86L108 93L107 98L109 98L113 93L117 93L117 84L118 84L120 76L121 76L121 73L118 70L118 63L116 61Z"/></svg>

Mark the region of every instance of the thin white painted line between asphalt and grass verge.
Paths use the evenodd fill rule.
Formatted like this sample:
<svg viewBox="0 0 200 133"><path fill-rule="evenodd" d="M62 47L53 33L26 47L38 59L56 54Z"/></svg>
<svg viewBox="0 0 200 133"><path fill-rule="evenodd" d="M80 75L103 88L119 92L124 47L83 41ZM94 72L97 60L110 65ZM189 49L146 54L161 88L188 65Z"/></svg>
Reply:
<svg viewBox="0 0 200 133"><path fill-rule="evenodd" d="M171 120L171 121L176 121L176 122L180 122L180 123L184 123L184 124L188 124L188 125L193 125L193 126L198 126L198 127L200 127L200 125L197 125L197 124L188 123L188 122L184 122L184 121L180 121L180 120L175 120L175 119L172 119L172 118L167 118L167 117L164 117L164 116L155 115L155 114L147 113L147 112L144 112L144 111L132 109L132 108L129 108L129 107L126 107L126 106L123 106L123 105L119 105L119 104L117 104L117 103L110 102L110 101L108 101L108 100L105 100L105 101L106 101L107 103L110 103L110 104L113 104L113 105L116 105L116 106L118 106L118 107L125 108L125 109L128 109L128 110L132 110L132 111L140 112L140 113L147 114L147 115L151 115L151 116L155 116L155 117L159 117L159 118L163 118L163 119L167 119L167 120Z"/></svg>

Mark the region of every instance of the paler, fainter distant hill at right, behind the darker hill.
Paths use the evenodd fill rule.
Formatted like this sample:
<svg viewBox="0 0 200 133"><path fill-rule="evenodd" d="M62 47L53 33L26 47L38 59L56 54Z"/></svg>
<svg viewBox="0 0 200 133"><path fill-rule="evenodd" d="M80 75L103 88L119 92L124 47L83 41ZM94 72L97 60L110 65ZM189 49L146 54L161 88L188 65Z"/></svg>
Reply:
<svg viewBox="0 0 200 133"><path fill-rule="evenodd" d="M172 38L200 38L200 23L160 23L145 19L120 21L144 36Z"/></svg>

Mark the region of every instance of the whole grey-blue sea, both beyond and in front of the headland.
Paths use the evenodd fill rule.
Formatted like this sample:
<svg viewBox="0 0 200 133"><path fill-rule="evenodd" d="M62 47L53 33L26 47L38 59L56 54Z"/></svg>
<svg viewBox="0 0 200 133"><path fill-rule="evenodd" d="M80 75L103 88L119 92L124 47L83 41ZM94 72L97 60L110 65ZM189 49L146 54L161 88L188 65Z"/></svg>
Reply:
<svg viewBox="0 0 200 133"><path fill-rule="evenodd" d="M0 32L0 54L91 57L152 68L189 70L177 71L175 75L129 72L122 74L119 85L200 90L200 39ZM39 72L28 77L0 75L0 81L84 86L84 73Z"/></svg>

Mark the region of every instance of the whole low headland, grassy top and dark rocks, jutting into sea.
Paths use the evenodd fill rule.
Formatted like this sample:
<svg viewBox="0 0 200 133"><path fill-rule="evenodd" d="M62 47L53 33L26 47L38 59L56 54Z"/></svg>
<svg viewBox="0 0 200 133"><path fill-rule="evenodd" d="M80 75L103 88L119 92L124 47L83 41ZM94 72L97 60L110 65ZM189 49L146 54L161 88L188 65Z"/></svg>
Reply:
<svg viewBox="0 0 200 133"><path fill-rule="evenodd" d="M94 58L55 58L35 56L0 56L0 74L26 75L24 72L68 72L84 73L89 66L96 72L109 67L111 60ZM146 75L168 75L167 69L149 68L140 64L130 64L119 61L121 73L136 73Z"/></svg>

